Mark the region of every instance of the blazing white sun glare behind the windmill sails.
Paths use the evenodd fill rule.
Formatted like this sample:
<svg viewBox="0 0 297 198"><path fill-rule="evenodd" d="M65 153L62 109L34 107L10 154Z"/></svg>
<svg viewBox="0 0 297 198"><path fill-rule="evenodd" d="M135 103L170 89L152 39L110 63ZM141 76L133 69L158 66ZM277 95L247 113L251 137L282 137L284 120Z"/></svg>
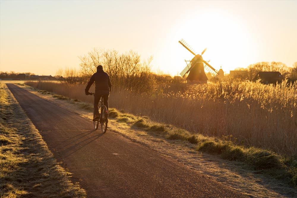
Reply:
<svg viewBox="0 0 297 198"><path fill-rule="evenodd" d="M248 30L239 19L217 12L205 12L193 15L183 21L183 28L177 34L182 35L196 51L203 54L205 61L215 69L229 73L248 58L251 46ZM185 31L186 30L186 31Z"/></svg>

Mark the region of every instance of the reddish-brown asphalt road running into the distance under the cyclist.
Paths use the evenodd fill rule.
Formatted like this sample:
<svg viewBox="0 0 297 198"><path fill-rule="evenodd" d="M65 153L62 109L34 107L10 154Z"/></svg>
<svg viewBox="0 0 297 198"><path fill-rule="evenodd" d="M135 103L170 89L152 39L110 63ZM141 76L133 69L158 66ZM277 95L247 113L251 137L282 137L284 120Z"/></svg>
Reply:
<svg viewBox="0 0 297 198"><path fill-rule="evenodd" d="M88 197L247 197L177 161L7 84L58 161Z"/></svg>

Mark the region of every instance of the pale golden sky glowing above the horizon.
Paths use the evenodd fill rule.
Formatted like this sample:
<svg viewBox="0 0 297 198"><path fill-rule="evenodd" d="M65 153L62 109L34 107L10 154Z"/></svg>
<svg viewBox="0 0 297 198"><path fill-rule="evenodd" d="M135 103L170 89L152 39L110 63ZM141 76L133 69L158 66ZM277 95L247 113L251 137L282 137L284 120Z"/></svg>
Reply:
<svg viewBox="0 0 297 198"><path fill-rule="evenodd" d="M193 55L229 73L262 61L297 61L297 1L0 0L0 71L55 75L79 69L94 47L133 50L152 70L178 75Z"/></svg>

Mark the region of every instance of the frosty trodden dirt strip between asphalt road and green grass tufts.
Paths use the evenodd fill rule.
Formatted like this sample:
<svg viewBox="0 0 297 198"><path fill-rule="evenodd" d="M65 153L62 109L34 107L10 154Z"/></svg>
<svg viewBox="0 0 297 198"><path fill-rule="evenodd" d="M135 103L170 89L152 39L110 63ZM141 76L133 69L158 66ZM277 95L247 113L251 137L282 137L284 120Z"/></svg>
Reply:
<svg viewBox="0 0 297 198"><path fill-rule="evenodd" d="M91 104L55 96L46 91L38 92L39 90L27 86L20 87L91 120ZM119 118L110 119L109 130L146 145L162 155L197 170L205 177L211 177L250 197L294 197L297 194L292 186L282 184L279 180L267 175L258 174L259 171L251 171L242 162L228 161L221 159L218 155L197 151L195 145L188 141L168 140L160 133L133 128L129 121Z"/></svg>

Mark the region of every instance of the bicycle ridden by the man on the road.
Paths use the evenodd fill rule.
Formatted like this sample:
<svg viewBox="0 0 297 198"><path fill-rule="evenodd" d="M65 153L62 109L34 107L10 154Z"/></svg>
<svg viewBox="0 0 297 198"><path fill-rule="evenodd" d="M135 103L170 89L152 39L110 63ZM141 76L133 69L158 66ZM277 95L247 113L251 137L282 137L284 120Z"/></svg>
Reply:
<svg viewBox="0 0 297 198"><path fill-rule="evenodd" d="M95 97L94 92L90 93L90 95L94 95L94 97ZM99 123L100 123L102 133L105 133L107 130L107 123L108 123L108 111L107 111L106 106L104 105L103 96L100 96L100 101L99 101L98 107L99 107L99 119L93 121L94 129L97 130L99 127Z"/></svg>

